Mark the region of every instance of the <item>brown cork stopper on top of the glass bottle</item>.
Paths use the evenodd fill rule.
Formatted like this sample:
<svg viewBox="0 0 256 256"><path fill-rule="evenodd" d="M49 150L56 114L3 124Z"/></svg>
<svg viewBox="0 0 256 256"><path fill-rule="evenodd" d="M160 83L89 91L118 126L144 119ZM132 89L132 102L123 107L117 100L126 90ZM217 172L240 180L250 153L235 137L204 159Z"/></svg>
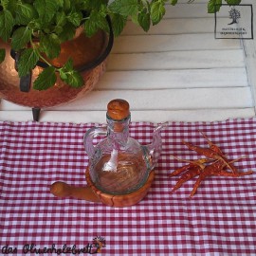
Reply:
<svg viewBox="0 0 256 256"><path fill-rule="evenodd" d="M122 120L130 115L130 106L127 101L116 99L107 104L107 116L111 119Z"/></svg>

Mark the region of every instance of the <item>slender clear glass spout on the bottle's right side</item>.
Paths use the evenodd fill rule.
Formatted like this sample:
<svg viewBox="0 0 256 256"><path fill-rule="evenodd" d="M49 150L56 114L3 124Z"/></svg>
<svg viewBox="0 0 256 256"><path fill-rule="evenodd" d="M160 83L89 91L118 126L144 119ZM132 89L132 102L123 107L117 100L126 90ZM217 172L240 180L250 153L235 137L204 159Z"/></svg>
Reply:
<svg viewBox="0 0 256 256"><path fill-rule="evenodd" d="M161 137L161 130L163 127L167 126L168 122L161 122L155 128L152 138L152 143L149 145L144 146L147 152L147 158L150 159L149 165L150 170L155 168L155 164L157 163L161 152L162 152L162 137Z"/></svg>

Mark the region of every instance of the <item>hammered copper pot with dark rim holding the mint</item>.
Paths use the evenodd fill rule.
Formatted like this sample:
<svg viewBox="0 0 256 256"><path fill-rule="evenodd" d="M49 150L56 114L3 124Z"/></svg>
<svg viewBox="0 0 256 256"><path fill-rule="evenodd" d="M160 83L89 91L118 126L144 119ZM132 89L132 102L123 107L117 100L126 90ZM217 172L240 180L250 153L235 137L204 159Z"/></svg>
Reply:
<svg viewBox="0 0 256 256"><path fill-rule="evenodd" d="M33 89L33 82L44 68L42 64L38 63L31 72L31 81L28 82L29 88L25 90L23 88L22 91L20 78L15 69L15 61L11 56L10 45L0 41L0 48L6 49L5 61L0 64L0 98L19 105L40 109L74 101L91 91L105 70L106 57L113 46L113 32L110 21L108 20L108 22L110 26L109 36L105 32L99 31L93 37L87 38L82 32L73 40L64 42L61 46L60 56L51 62L59 66L71 57L74 67L81 72L84 80L84 84L80 88L72 88L65 84L57 74L57 82L54 86L45 91Z"/></svg>

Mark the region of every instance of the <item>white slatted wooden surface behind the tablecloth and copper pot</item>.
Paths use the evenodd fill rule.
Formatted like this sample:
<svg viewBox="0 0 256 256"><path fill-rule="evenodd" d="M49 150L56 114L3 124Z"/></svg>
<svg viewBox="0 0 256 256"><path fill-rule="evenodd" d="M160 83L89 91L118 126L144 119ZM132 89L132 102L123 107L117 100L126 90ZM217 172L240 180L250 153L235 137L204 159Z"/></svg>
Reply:
<svg viewBox="0 0 256 256"><path fill-rule="evenodd" d="M180 2L148 33L128 22L94 91L43 110L41 121L104 122L115 98L130 102L136 121L255 116L255 40L214 39L207 1ZM2 100L0 119L29 120L31 110Z"/></svg>

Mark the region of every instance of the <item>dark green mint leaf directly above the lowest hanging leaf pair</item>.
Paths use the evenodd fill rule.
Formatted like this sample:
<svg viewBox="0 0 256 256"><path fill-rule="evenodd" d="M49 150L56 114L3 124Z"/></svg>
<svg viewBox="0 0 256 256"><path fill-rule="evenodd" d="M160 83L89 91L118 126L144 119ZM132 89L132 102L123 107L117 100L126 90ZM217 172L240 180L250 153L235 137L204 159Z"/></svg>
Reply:
<svg viewBox="0 0 256 256"><path fill-rule="evenodd" d="M61 44L55 34L46 34L41 37L40 49L46 52L46 56L50 59L58 57L61 53Z"/></svg>

